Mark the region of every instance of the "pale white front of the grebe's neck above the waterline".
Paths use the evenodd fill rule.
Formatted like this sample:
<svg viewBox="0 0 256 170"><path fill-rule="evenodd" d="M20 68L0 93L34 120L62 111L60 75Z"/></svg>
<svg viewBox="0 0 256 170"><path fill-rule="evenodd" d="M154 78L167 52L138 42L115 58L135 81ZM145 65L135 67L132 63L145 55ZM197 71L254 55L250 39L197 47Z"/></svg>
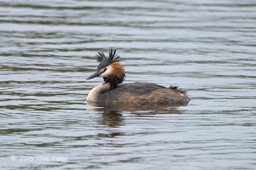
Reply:
<svg viewBox="0 0 256 170"><path fill-rule="evenodd" d="M86 101L87 102L97 102L97 97L100 95L100 93L104 93L106 91L109 91L110 89L110 83L103 83L99 86L96 86L93 88L90 93L88 94Z"/></svg>

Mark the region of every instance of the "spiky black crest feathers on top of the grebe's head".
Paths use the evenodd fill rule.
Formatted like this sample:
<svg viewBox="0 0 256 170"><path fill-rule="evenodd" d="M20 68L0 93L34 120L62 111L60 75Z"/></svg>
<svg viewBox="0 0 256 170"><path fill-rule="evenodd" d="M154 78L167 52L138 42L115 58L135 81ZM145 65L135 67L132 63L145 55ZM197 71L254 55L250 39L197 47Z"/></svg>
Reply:
<svg viewBox="0 0 256 170"><path fill-rule="evenodd" d="M120 59L120 56L116 54L116 50L113 50L112 48L109 49L108 56L106 56L104 52L100 51L98 52L98 54L95 55L95 57L97 58L97 61L100 62L97 68L98 70L108 65L111 65L111 63L122 61L122 59Z"/></svg>

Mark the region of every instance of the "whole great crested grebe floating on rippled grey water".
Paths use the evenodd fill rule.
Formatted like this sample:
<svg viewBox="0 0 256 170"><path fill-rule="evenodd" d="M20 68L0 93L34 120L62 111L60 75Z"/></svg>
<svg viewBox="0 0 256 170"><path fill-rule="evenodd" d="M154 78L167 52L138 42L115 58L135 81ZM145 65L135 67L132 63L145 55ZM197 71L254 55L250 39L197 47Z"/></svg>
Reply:
<svg viewBox="0 0 256 170"><path fill-rule="evenodd" d="M165 88L148 82L133 82L122 84L125 71L119 63L122 61L116 50L109 49L109 55L98 52L95 55L99 66L87 80L103 77L104 82L93 88L88 94L87 102L97 103L170 103L173 105L187 105L189 98L185 91L177 86Z"/></svg>

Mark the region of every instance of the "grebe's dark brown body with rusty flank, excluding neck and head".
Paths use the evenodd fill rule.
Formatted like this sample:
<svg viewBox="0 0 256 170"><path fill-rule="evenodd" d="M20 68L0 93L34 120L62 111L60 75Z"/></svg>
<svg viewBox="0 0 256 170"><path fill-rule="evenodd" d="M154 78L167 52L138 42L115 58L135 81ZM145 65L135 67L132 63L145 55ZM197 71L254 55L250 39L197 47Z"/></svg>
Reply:
<svg viewBox="0 0 256 170"><path fill-rule="evenodd" d="M165 88L149 82L134 82L121 84L115 89L101 93L97 102L104 103L172 103L187 105L190 99L186 92L177 89L177 86Z"/></svg>

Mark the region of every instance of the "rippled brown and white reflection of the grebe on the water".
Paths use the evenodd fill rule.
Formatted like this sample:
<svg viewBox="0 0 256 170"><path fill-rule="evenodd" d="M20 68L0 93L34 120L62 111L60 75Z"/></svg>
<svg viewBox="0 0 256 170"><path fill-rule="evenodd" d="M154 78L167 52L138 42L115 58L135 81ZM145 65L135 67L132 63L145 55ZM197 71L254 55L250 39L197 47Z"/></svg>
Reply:
<svg viewBox="0 0 256 170"><path fill-rule="evenodd" d="M120 126L125 125L125 117L122 113L131 113L138 116L152 116L152 114L182 114L182 111L170 107L168 103L131 103L131 104L106 104L106 103L88 103L93 106L87 111L98 111L102 116L97 119L100 125L107 125L109 132L106 134L98 134L99 137L107 137L109 142L108 146L123 146L123 144L115 143L109 138L125 135L125 132L120 131Z"/></svg>

